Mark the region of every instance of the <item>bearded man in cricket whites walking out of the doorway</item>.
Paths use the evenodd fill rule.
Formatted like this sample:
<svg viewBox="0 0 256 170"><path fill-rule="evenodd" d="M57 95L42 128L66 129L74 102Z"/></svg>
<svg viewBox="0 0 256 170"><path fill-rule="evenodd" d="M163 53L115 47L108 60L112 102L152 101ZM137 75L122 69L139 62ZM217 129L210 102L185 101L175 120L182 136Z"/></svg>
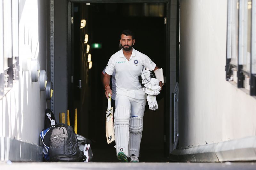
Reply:
<svg viewBox="0 0 256 170"><path fill-rule="evenodd" d="M117 159L121 162L139 162L140 140L143 129L143 116L146 105L146 93L141 87L138 76L143 66L155 71L156 78L162 88L163 71L159 69L147 55L133 48L134 35L124 30L120 35L122 49L117 51L108 61L103 78L105 95L112 95L109 87L110 76L116 70L116 110L115 138Z"/></svg>

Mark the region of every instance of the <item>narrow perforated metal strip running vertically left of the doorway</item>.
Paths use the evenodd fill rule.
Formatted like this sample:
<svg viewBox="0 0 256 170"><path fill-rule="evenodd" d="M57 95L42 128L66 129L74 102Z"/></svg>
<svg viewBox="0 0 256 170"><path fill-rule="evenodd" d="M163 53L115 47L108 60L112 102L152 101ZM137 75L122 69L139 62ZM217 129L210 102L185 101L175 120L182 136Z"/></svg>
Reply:
<svg viewBox="0 0 256 170"><path fill-rule="evenodd" d="M51 81L54 86L54 0L50 2L50 53L51 53ZM54 112L54 92L51 98L51 110Z"/></svg>

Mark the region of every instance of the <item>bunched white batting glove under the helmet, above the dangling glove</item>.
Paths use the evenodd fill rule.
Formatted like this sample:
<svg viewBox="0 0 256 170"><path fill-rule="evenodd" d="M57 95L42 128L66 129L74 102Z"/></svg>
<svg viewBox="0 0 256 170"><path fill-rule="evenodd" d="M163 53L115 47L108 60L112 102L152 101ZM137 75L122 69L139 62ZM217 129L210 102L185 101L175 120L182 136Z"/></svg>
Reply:
<svg viewBox="0 0 256 170"><path fill-rule="evenodd" d="M144 85L145 88L143 88L143 91L149 95L158 95L160 94L160 90L161 87L159 86L159 80L157 80L156 78L151 78L151 80L149 81L149 83Z"/></svg>

